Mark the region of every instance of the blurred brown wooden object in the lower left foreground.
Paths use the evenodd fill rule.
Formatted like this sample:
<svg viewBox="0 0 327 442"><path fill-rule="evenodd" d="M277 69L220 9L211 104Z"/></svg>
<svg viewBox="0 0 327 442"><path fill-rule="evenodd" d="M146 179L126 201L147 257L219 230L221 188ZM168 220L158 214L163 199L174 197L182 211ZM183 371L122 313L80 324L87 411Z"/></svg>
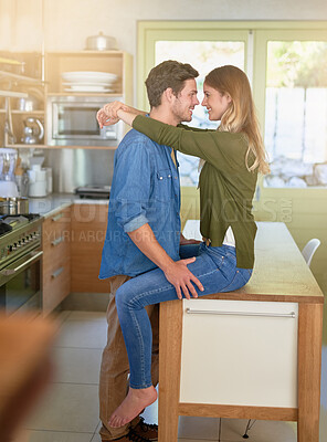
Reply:
<svg viewBox="0 0 327 442"><path fill-rule="evenodd" d="M51 373L57 325L30 314L0 313L0 441L12 441Z"/></svg>

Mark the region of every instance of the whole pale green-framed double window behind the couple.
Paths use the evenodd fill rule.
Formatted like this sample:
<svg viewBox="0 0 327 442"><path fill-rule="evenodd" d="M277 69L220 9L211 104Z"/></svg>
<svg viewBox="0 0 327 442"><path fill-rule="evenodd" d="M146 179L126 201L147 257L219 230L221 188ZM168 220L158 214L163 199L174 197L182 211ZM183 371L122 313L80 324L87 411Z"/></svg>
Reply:
<svg viewBox="0 0 327 442"><path fill-rule="evenodd" d="M138 54L139 84L168 59L189 62L200 72L199 91L213 67L229 63L243 69L272 162L265 185L327 186L326 22L140 22ZM148 108L144 87L139 105ZM205 114L198 108L194 124L203 125ZM181 162L182 186L194 186L194 164Z"/></svg>

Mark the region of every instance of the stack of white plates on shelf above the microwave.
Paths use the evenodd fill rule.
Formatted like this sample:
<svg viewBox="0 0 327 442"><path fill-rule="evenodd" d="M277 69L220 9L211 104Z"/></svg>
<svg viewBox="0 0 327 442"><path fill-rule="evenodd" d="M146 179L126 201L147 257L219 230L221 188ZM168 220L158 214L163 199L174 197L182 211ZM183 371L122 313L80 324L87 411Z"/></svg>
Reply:
<svg viewBox="0 0 327 442"><path fill-rule="evenodd" d="M114 93L118 75L109 72L74 71L63 72L62 80L65 92Z"/></svg>

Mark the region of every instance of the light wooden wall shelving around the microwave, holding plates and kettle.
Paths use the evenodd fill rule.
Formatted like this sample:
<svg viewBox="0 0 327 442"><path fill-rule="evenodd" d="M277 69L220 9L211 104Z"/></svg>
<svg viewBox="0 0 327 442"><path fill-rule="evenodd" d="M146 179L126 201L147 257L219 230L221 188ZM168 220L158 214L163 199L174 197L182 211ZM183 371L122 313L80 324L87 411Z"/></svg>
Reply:
<svg viewBox="0 0 327 442"><path fill-rule="evenodd" d="M18 65L6 65L8 60L18 60ZM1 71L1 67L3 67ZM10 72L11 71L11 72ZM81 80L66 77L66 73L78 73ZM83 74L85 73L85 75ZM103 74L114 74L115 78L109 85L106 78L104 82L97 78ZM68 74L70 75L70 74ZM74 76L74 74L73 74ZM108 76L108 75L104 75ZM3 94L1 94L1 91ZM4 98L4 92L10 91L11 98ZM24 93L28 97L14 97L12 93ZM8 95L10 95L8 94ZM72 97L72 98L70 98ZM50 113L53 101L65 102L77 99L80 103L106 103L106 101L120 99L133 105L133 59L123 51L77 51L77 52L48 52L42 57L40 53L0 54L0 139L8 147L82 147L82 148L116 148L124 129L114 131L107 129L101 137L107 137L98 143L97 125L94 123L88 143L83 139L76 141L68 136L64 143L50 141L52 128L65 134L68 125L64 122L66 115L57 115L57 122L53 122ZM99 101L102 98L102 101ZM89 107L89 106L88 106ZM99 107L102 107L99 105ZM85 114L86 115L86 114ZM62 120L61 120L62 119ZM36 122L38 120L38 122ZM44 130L40 130L40 124ZM68 128L74 131L74 128ZM126 130L126 128L125 128ZM33 133L34 143L28 133ZM119 133L119 137L115 134ZM115 138L114 138L115 136ZM65 136L63 135L63 138ZM70 141L71 139L71 141ZM93 141L94 140L94 141Z"/></svg>

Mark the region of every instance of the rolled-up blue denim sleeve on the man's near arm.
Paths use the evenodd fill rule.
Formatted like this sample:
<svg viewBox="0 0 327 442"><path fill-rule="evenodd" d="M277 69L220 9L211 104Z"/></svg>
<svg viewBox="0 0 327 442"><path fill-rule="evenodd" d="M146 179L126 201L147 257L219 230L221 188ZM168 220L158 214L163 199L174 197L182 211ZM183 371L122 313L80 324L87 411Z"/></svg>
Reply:
<svg viewBox="0 0 327 442"><path fill-rule="evenodd" d="M116 192L113 196L117 223L124 232L133 232L148 223L147 211L150 201L151 152L141 143L125 147L115 161Z"/></svg>

